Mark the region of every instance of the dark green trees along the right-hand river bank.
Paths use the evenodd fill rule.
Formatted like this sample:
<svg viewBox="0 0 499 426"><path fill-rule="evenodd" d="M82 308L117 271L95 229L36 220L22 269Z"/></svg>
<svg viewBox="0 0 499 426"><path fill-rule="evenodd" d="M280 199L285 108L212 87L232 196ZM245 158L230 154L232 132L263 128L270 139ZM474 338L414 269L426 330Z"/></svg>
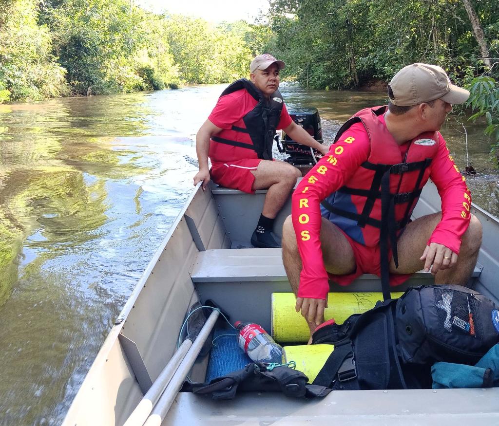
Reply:
<svg viewBox="0 0 499 426"><path fill-rule="evenodd" d="M274 37L267 49L289 65L288 78L310 88L387 82L405 65L441 65L470 89L499 149L497 0L271 0ZM494 79L495 77L495 79Z"/></svg>

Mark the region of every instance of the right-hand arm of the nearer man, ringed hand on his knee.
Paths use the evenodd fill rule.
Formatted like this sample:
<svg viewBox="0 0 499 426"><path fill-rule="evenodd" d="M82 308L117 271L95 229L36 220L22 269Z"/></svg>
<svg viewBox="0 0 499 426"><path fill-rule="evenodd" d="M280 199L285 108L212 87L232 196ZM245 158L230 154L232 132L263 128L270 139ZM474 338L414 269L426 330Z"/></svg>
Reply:
<svg viewBox="0 0 499 426"><path fill-rule="evenodd" d="M439 132L439 151L431 166L430 179L437 186L442 199L442 220L433 231L421 260L425 270L436 274L452 268L459 255L461 238L470 224L471 192L449 154L444 138ZM444 258L450 260L448 265Z"/></svg>

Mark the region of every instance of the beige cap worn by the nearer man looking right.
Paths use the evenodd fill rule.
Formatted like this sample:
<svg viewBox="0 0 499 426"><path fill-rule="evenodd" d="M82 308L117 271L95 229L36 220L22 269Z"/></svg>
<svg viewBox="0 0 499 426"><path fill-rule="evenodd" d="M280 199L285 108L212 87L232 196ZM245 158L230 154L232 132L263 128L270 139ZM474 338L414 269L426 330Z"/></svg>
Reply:
<svg viewBox="0 0 499 426"><path fill-rule="evenodd" d="M449 76L437 65L414 63L402 68L390 81L394 98L390 102L397 106L419 105L435 99L450 104L462 104L470 92L451 83Z"/></svg>

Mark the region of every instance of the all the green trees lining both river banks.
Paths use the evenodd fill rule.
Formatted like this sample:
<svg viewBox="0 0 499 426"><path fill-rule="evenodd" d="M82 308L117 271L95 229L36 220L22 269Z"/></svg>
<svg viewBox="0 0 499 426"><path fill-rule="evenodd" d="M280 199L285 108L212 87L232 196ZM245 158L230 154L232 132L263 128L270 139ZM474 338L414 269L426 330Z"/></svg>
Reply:
<svg viewBox="0 0 499 426"><path fill-rule="evenodd" d="M268 24L213 26L131 0L0 0L0 103L230 82L263 50L309 88L442 65L499 147L497 0L269 0Z"/></svg>

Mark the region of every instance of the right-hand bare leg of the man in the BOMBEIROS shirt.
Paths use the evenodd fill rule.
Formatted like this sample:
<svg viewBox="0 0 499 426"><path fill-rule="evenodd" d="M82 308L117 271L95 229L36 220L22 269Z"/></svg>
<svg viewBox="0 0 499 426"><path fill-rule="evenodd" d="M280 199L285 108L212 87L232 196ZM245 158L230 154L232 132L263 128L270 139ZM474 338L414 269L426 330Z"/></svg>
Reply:
<svg viewBox="0 0 499 426"><path fill-rule="evenodd" d="M399 267L395 268L393 258L390 260L390 272L406 274L424 268L425 262L420 256L433 230L442 218L441 213L429 214L409 223L397 243ZM482 224L471 215L470 225L463 235L456 265L449 269L439 270L435 276L436 284L467 285L477 264L478 252L482 244Z"/></svg>

